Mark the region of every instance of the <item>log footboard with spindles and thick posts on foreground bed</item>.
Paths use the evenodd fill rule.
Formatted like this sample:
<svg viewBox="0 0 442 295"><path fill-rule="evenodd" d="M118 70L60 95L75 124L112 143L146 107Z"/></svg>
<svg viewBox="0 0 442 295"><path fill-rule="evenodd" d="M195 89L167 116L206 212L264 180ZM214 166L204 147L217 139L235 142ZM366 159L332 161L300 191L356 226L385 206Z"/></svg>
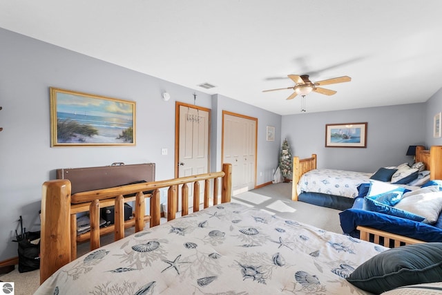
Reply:
<svg viewBox="0 0 442 295"><path fill-rule="evenodd" d="M221 184L219 184L221 180ZM108 189L71 194L70 180L57 179L44 182L41 198L40 283L57 269L77 257L77 213L89 212L90 250L100 247L99 208L115 206L115 240L124 238L125 227L135 225L135 232L142 231L145 222L150 227L160 225L160 189L168 188L167 220L175 219L178 207L178 191L181 189L181 215L189 213L189 186L193 196L200 196L200 182L204 183L204 208L209 202L218 204L231 201L231 164L223 164L222 171L193 175L184 178L128 184ZM221 186L221 187L220 187ZM212 195L211 189L212 187ZM143 192L152 191L152 193ZM132 197L126 195L135 194ZM145 216L145 198L150 199L150 216ZM193 198L193 211L199 211L200 200ZM135 202L132 220L124 221L124 203ZM103 229L101 229L103 230Z"/></svg>

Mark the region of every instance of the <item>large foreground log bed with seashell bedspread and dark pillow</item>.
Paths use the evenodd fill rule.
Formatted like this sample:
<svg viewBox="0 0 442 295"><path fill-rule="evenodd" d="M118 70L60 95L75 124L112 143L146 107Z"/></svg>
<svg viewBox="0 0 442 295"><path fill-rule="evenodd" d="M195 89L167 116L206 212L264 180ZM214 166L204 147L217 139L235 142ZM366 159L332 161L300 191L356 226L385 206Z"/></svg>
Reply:
<svg viewBox="0 0 442 295"><path fill-rule="evenodd" d="M168 191L168 222L160 222L160 189ZM190 214L189 189L204 195L204 209L197 201ZM135 234L124 237L124 196L133 194ZM100 247L98 212L109 202L115 242ZM77 258L79 204L90 211L91 251ZM175 219L177 211L182 217ZM50 180L43 185L42 285L35 294L371 294L422 283L407 272L387 287L363 277L373 259L392 250L231 202L230 164L215 173L74 194L69 180Z"/></svg>

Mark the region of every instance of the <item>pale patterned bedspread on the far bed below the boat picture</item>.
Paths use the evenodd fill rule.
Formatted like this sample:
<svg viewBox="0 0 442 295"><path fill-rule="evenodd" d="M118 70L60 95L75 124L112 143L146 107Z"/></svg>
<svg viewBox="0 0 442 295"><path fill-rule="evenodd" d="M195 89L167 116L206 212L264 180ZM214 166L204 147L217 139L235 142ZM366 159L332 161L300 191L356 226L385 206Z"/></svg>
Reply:
<svg viewBox="0 0 442 295"><path fill-rule="evenodd" d="M303 191L356 198L358 185L368 183L373 173L314 169L303 174L298 182L298 195Z"/></svg>

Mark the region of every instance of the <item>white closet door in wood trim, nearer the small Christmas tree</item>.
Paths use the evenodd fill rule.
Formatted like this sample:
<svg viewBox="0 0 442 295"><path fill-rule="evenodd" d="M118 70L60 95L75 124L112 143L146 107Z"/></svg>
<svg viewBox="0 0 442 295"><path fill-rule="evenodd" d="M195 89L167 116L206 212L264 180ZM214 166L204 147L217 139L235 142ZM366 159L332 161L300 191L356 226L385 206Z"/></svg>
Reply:
<svg viewBox="0 0 442 295"><path fill-rule="evenodd" d="M223 113L223 163L232 164L233 196L255 188L256 126L251 117Z"/></svg>

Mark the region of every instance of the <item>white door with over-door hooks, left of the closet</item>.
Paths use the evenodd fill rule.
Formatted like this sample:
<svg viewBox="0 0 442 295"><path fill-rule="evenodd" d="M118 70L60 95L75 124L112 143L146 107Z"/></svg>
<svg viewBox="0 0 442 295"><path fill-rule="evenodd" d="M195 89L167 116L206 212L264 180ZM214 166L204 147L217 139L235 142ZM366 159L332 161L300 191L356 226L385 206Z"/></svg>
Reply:
<svg viewBox="0 0 442 295"><path fill-rule="evenodd" d="M209 173L209 110L182 104L178 111L177 177ZM202 185L204 183L200 183ZM200 191L202 202L202 187ZM189 187L189 195L189 204L192 204L193 187Z"/></svg>

